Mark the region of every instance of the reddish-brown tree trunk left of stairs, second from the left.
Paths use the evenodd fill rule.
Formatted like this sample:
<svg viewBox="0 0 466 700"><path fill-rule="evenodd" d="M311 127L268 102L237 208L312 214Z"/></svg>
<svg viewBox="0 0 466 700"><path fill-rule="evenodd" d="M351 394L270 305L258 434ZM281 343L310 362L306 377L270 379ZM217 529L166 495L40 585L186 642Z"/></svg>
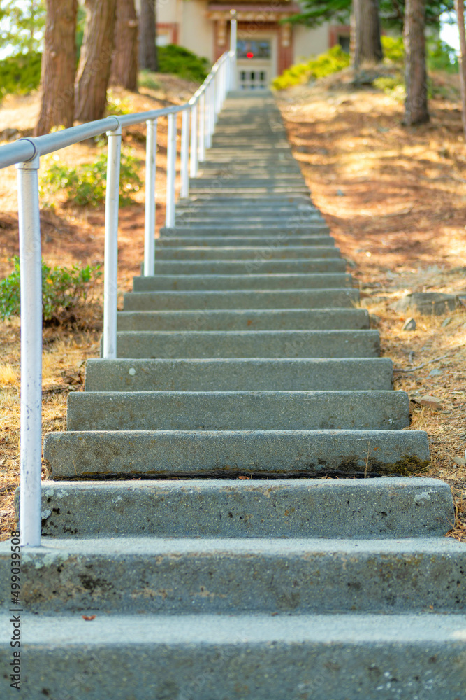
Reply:
<svg viewBox="0 0 466 700"><path fill-rule="evenodd" d="M86 0L86 26L75 85L75 118L101 119L105 111L117 0Z"/></svg>

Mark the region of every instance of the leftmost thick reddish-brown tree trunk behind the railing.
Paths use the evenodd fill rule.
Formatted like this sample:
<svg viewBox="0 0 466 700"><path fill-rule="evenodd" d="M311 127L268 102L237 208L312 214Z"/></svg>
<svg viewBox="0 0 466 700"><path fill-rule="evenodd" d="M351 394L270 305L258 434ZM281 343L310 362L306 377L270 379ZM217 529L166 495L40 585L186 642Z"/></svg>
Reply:
<svg viewBox="0 0 466 700"><path fill-rule="evenodd" d="M73 126L78 0L47 0L42 57L42 104L35 136Z"/></svg>

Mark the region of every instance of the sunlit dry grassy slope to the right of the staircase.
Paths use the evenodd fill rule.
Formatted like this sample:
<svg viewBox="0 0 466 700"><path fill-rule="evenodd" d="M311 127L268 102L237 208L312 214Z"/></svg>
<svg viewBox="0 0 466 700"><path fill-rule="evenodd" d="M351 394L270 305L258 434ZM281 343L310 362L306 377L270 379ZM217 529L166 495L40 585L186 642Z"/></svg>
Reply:
<svg viewBox="0 0 466 700"><path fill-rule="evenodd" d="M407 129L400 103L372 90L351 90L350 78L281 93L279 106L312 198L381 334L383 354L396 368L414 370L395 372L395 388L412 398L439 398L437 407L411 403L410 429L428 433L432 464L423 475L451 485L457 508L451 535L466 541L466 309L451 312L442 325L446 316L392 308L412 291L466 290L466 146L459 103L432 100L430 123ZM402 330L408 316L415 317L414 331Z"/></svg>

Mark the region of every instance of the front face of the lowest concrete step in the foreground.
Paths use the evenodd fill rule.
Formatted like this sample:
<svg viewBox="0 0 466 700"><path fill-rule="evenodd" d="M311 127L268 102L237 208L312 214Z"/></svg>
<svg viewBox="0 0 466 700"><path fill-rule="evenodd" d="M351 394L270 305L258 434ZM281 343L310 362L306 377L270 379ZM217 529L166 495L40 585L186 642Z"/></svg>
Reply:
<svg viewBox="0 0 466 700"><path fill-rule="evenodd" d="M24 697L43 700L45 689L52 700L218 700L221 688L228 700L393 700L395 683L400 697L451 700L460 697L458 688L463 687L463 673L458 676L451 669L464 668L464 645L446 633L438 641L421 636L401 643L395 638L380 643L367 636L331 645L300 638L294 642L290 635L273 644L266 638L250 643L238 636L219 643L193 640L187 645L182 639L148 640L138 617L120 622L115 628L119 639L112 635L107 644L92 644L87 631L92 623L82 620L78 624L86 626L86 635L72 643L74 628L67 625L69 638L61 648L40 643L37 632L34 645L26 637ZM169 619L163 622L170 626ZM187 624L192 626L194 621ZM129 642L125 641L128 625ZM51 621L50 626L57 629L57 622ZM460 635L460 624L455 629ZM159 633L158 626L154 632ZM11 658L7 647L1 658L3 668L8 668ZM0 678L6 697L12 692L9 683L9 678Z"/></svg>

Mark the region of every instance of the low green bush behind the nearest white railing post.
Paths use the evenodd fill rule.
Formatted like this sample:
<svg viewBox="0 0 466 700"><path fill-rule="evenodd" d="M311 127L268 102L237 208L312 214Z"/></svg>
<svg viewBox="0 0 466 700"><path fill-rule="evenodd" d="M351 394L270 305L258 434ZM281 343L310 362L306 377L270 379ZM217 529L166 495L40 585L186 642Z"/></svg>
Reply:
<svg viewBox="0 0 466 700"><path fill-rule="evenodd" d="M20 258L15 255L13 272L0 281L0 317L4 321L10 316L20 315ZM100 265L96 267L48 267L42 261L42 316L50 321L65 309L86 303L96 279L101 276Z"/></svg>

